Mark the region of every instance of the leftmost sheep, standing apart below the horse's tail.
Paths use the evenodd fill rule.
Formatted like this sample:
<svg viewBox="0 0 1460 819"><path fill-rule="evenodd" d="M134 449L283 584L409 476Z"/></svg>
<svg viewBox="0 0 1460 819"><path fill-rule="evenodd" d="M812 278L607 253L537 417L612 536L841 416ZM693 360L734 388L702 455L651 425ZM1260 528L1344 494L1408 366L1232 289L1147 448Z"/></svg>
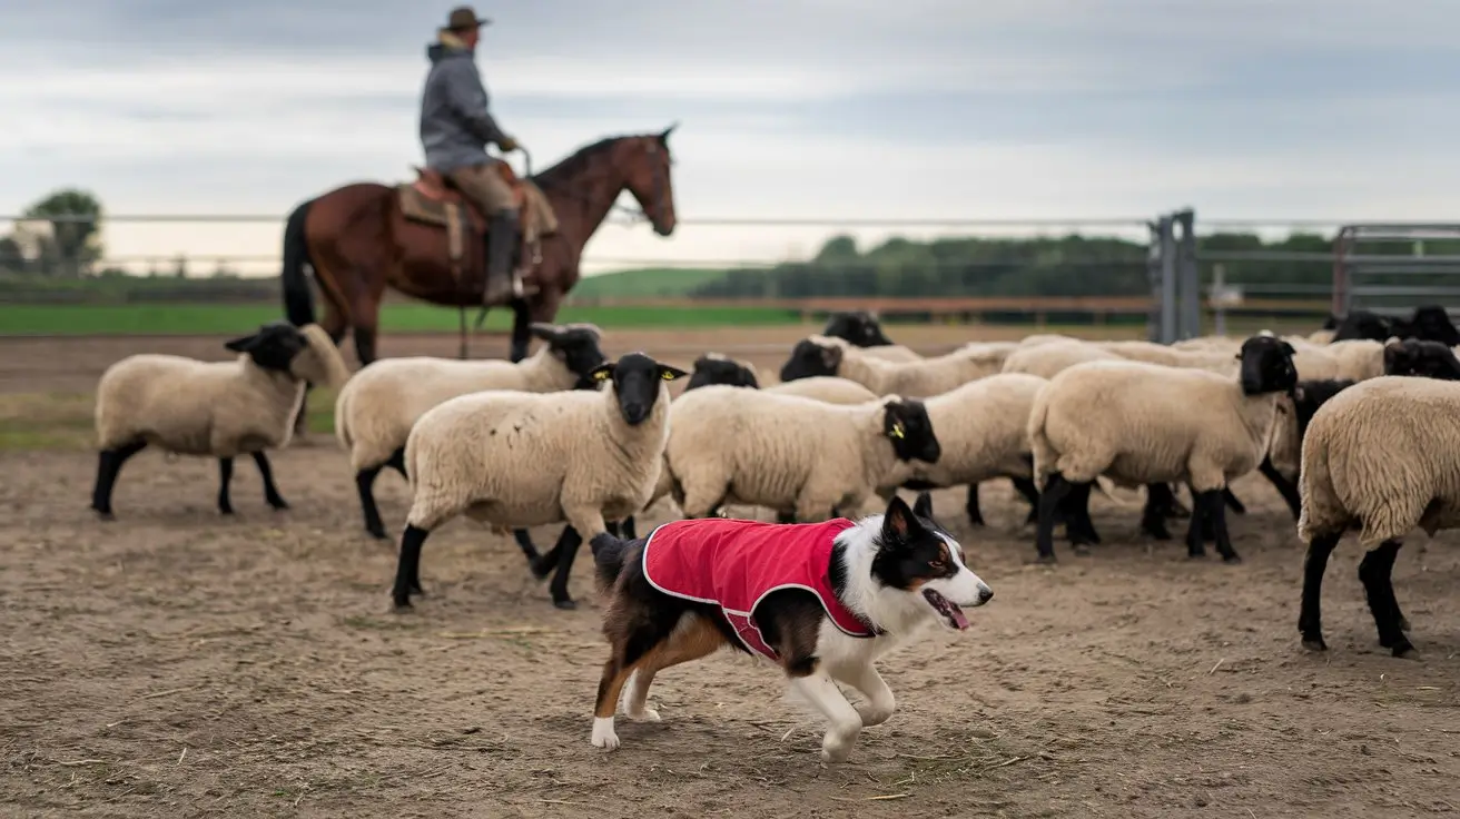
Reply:
<svg viewBox="0 0 1460 819"><path fill-rule="evenodd" d="M293 437L293 416L307 381L339 385L349 371L318 324L264 324L223 343L234 361L203 362L175 355L133 355L107 368L96 385L96 485L91 508L112 520L117 474L146 447L218 458L218 511L234 514L234 458L248 453L264 482L264 499L288 510L264 450Z"/></svg>

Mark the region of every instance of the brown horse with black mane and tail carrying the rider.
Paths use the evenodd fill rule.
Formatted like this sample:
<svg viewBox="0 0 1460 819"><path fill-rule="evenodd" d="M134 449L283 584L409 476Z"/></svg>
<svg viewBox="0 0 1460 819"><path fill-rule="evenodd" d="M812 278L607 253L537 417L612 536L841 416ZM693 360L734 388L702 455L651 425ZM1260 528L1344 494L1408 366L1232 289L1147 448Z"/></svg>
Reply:
<svg viewBox="0 0 1460 819"><path fill-rule="evenodd" d="M673 130L670 126L658 134L604 139L531 177L552 204L559 228L542 239L540 261L526 267L526 295L499 302L510 304L515 314L511 361L527 356L534 321L553 321L558 315L564 296L578 283L583 247L623 190L638 200L654 232L667 237L675 231L669 156ZM486 286L482 216L467 210L461 258L454 263L447 228L403 213L397 188L378 182L334 188L299 204L285 226L283 302L289 321L296 326L314 321L314 299L304 270L308 264L326 301L320 324L334 343L353 330L362 366L375 361L380 302L387 286L431 304L492 307L482 298ZM521 255L518 269L520 263Z"/></svg>

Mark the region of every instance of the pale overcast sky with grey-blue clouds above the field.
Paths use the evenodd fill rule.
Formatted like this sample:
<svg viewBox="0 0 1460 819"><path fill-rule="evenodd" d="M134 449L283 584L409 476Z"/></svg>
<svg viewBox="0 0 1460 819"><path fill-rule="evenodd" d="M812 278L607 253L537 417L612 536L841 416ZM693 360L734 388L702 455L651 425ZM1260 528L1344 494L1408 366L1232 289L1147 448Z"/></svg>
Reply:
<svg viewBox="0 0 1460 819"><path fill-rule="evenodd" d="M0 0L0 213L279 213L418 162L420 0ZM1460 219L1456 0L533 0L477 60L543 166L675 133L682 218ZM599 258L774 258L831 229L610 226ZM876 232L863 235L876 238ZM114 226L112 253L277 253Z"/></svg>

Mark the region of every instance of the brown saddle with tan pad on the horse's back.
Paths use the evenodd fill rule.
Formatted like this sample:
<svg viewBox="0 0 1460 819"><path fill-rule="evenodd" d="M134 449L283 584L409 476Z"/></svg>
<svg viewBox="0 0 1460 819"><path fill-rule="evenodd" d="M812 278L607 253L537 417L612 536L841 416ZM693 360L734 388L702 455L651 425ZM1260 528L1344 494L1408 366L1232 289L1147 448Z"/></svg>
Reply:
<svg viewBox="0 0 1460 819"><path fill-rule="evenodd" d="M445 228L447 255L460 276L466 237L470 235L476 247L483 247L488 218L438 171L415 165L412 169L416 172L415 181L396 185L400 213L410 222ZM518 177L507 162L498 162L496 171L512 190L512 207L518 213L517 276L526 279L527 272L542 261L540 229L545 222L552 220L550 210L545 218L543 209L552 206L531 181Z"/></svg>

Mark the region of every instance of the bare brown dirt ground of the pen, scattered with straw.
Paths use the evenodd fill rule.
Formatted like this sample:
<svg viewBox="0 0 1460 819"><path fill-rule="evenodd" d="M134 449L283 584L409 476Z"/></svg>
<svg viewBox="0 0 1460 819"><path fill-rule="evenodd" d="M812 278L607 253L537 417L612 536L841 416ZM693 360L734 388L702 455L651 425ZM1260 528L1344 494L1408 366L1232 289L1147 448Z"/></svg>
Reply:
<svg viewBox="0 0 1460 819"><path fill-rule="evenodd" d="M796 328L613 334L688 364ZM921 349L968 328L899 331ZM0 342L0 393L73 412L142 350L223 358L219 339ZM479 342L477 349L498 342ZM765 347L762 347L762 345ZM218 350L218 352L210 352ZM774 352L772 352L774 350ZM450 337L383 355L453 355ZM495 352L495 350L492 350ZM16 394L26 394L26 400ZM0 812L6 816L1428 816L1460 810L1460 550L1415 534L1394 585L1422 660L1377 645L1339 547L1327 655L1298 642L1302 550L1260 479L1231 527L1245 562L1191 562L1094 501L1105 545L1034 566L1025 507L984 486L988 526L936 493L994 600L965 634L885 658L898 712L823 766L819 721L775 672L714 655L656 680L663 723L588 743L606 648L591 572L552 607L510 539L467 521L422 558L426 597L390 610L394 549L369 540L347 464L312 437L274 455L286 512L237 470L145 453L117 520L86 510L93 455L0 453ZM404 482L377 485L399 526ZM667 510L654 510L653 521ZM1181 523L1181 521L1178 521ZM1184 528L1184 523L1175 527ZM642 531L644 528L641 528ZM540 545L556 527L533 531Z"/></svg>

